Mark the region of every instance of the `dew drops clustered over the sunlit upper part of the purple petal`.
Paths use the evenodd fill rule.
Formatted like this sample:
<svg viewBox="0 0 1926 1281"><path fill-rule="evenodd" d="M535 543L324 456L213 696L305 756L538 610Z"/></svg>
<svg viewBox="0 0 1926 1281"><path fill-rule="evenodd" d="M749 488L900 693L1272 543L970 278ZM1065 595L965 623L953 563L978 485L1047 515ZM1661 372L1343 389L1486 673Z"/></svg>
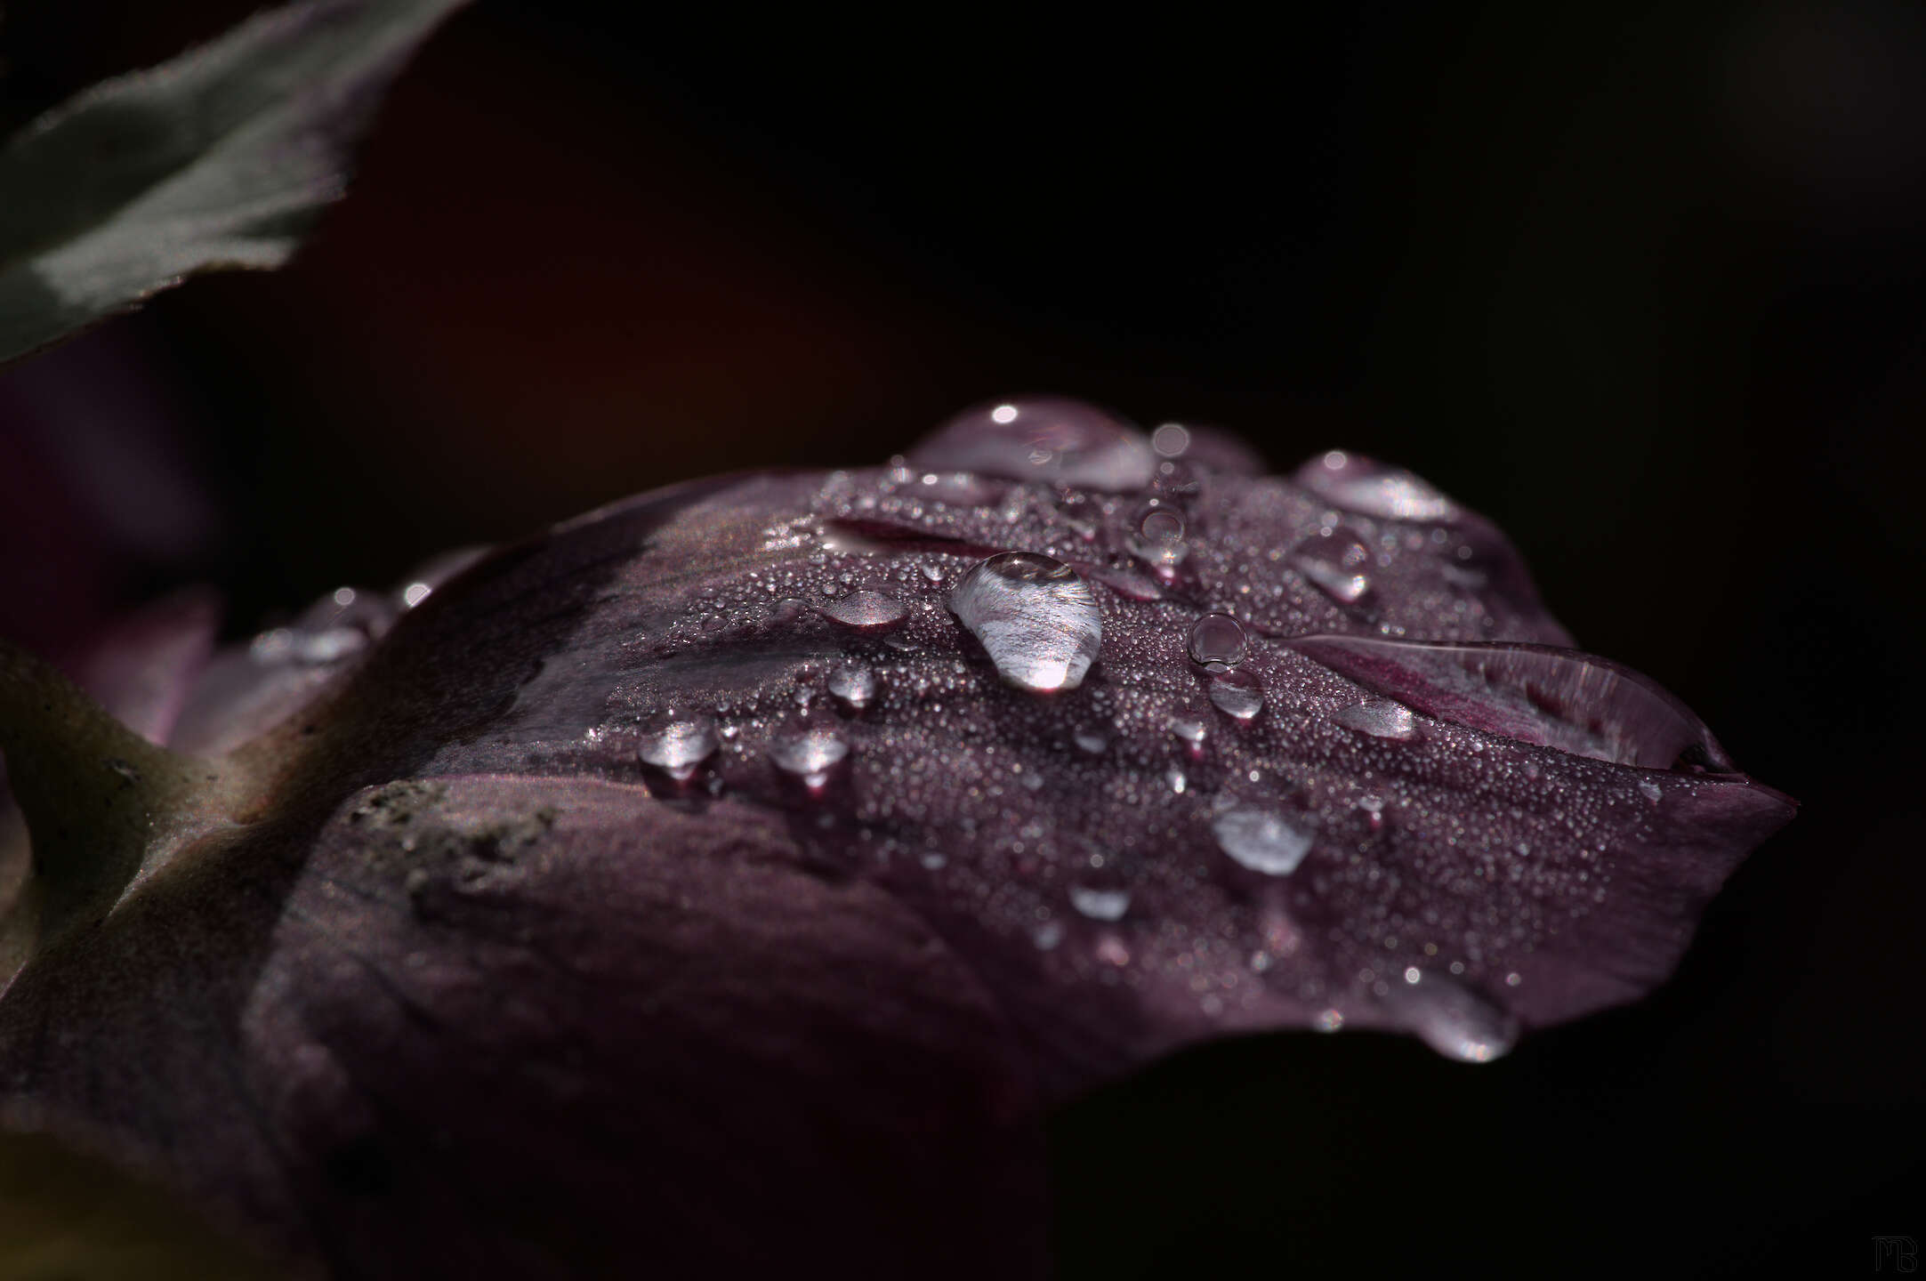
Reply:
<svg viewBox="0 0 1926 1281"><path fill-rule="evenodd" d="M828 474L651 651L788 638L794 663L663 678L586 744L618 745L664 797L776 799L874 875L973 902L1040 963L1177 982L1202 1019L1391 1025L1497 1058L1516 1019L1493 994L1525 982L1560 913L1602 902L1627 813L1612 786L1533 799L1543 744L1633 755L1543 697L1512 703L1554 736L1514 744L1352 680L1373 655L1346 638L1464 680L1466 641L1506 640L1535 603L1483 591L1475 518L1408 472L1340 451L1290 482L1254 470L1217 433L1075 401L959 414L907 458ZM268 634L254 659L325 663L308 651L358 647L349 630ZM1323 649L1294 649L1306 636ZM1431 755L1400 767L1400 749ZM1500 819L1454 813L1452 788ZM1410 828L1402 857L1387 815Z"/></svg>

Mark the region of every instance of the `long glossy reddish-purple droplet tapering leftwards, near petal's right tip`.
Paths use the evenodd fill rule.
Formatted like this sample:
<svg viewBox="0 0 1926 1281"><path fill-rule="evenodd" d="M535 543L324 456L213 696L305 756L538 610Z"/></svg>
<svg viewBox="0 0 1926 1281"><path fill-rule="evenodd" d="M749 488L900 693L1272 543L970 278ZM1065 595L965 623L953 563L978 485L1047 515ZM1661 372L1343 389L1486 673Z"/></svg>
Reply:
<svg viewBox="0 0 1926 1281"><path fill-rule="evenodd" d="M1631 668L1520 643L1298 636L1285 641L1427 717L1647 769L1731 771L1712 732Z"/></svg>

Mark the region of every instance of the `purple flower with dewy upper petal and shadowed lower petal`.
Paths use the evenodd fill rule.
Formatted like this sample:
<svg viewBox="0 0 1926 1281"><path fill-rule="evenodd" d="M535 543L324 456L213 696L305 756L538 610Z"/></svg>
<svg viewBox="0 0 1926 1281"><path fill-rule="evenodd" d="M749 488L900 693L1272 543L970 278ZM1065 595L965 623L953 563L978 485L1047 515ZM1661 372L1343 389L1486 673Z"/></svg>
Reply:
<svg viewBox="0 0 1926 1281"><path fill-rule="evenodd" d="M1005 484L680 485L299 690L218 663L193 705L281 709L231 757L252 809L29 963L0 1079L351 1275L566 1273L638 1223L670 1271L1003 1275L1040 1260L1040 1106L1236 1031L1497 1058L1660 982L1789 819L1552 649L1516 553L1416 478L1052 412L1038 478L969 455L992 422L924 464ZM1146 510L1184 555L1140 591ZM986 562L1050 574L976 609ZM1011 678L1046 651L1079 680Z"/></svg>

